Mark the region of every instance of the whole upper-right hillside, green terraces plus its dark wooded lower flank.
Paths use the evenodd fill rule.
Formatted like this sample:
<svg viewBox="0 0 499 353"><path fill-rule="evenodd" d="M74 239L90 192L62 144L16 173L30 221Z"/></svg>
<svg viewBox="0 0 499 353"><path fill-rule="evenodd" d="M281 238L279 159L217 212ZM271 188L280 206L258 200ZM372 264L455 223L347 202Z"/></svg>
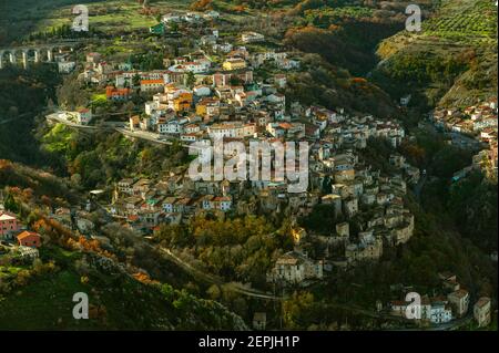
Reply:
<svg viewBox="0 0 499 353"><path fill-rule="evenodd" d="M489 0L444 0L418 33L378 46L374 81L419 104L468 105L497 96L497 8Z"/></svg>

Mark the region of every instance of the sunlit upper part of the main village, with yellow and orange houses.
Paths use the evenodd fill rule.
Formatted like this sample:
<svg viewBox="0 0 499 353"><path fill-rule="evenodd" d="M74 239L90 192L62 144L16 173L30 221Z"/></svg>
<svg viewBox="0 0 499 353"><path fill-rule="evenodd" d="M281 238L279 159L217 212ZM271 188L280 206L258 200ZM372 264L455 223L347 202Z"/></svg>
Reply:
<svg viewBox="0 0 499 353"><path fill-rule="evenodd" d="M176 17L167 17L176 21ZM176 20L175 20L176 19ZM185 142L195 142L203 134L223 134L235 137L241 128L233 128L238 122L246 125L244 134L253 129L282 134L288 129L276 126L278 122L289 120L285 116L285 96L279 92L286 86L287 70L298 69L299 61L289 58L286 52L273 50L249 53L245 46L220 43L218 31L208 30L198 41L198 50L179 58L165 58L167 69L153 71L133 70L130 63L111 63L99 53L86 55L82 77L94 84L106 85L108 100L126 101L135 92L145 93L152 100L145 103L146 116L133 116L131 129L143 129L160 135L173 135ZM243 43L262 40L258 33L242 33ZM205 49L224 50L216 62L205 54ZM277 71L267 82L255 82L254 69L273 64ZM281 72L279 72L281 71ZM194 76L194 82L192 82ZM234 124L235 123L235 124ZM283 128L284 127L284 128ZM298 129L306 131L304 126ZM313 131L316 133L316 129Z"/></svg>

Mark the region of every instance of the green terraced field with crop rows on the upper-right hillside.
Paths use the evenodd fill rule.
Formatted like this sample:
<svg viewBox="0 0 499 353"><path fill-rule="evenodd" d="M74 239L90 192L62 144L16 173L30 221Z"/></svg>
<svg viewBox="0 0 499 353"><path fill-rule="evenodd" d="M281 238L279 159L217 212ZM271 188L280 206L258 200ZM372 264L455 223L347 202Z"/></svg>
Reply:
<svg viewBox="0 0 499 353"><path fill-rule="evenodd" d="M436 105L470 105L478 100L497 96L497 7L493 0L442 0L438 12L422 22L421 32L403 31L378 46L381 60L378 71L397 66L411 58L458 59L465 62L462 72L445 86L428 81L417 90ZM422 56L421 56L422 55ZM464 59L468 55L468 59ZM420 61L419 64L424 64ZM384 69L385 68L385 69ZM466 69L465 69L466 68ZM389 70L389 69L387 69ZM409 71L426 71L410 66ZM487 73L483 75L483 73ZM477 84L480 82L480 84ZM399 82L398 86L410 84Z"/></svg>

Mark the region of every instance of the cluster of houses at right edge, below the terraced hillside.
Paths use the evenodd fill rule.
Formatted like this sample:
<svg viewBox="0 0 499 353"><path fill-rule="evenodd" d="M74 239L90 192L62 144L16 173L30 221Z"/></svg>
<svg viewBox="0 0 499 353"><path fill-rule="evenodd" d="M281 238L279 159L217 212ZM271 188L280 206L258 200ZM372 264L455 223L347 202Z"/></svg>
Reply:
<svg viewBox="0 0 499 353"><path fill-rule="evenodd" d="M431 114L431 118L437 127L473 136L473 138L483 146L481 150L473 156L472 165L455 175L456 180L464 177L473 168L481 169L489 178L497 179L497 98L464 110L439 108Z"/></svg>

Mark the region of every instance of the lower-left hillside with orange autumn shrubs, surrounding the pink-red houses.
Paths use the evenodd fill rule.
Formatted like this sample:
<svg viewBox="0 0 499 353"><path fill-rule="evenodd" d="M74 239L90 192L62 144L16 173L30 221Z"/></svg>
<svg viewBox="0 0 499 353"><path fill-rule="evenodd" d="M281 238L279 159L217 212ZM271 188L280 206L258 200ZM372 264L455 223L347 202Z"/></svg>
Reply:
<svg viewBox="0 0 499 353"><path fill-rule="evenodd" d="M162 282L151 280L139 257L143 243L135 243L133 256L112 246L104 250L48 217L43 200L59 207L81 198L63 179L0 159L0 190L4 206L43 238L33 263L0 245L0 330L247 330L218 302L167 284L179 285L183 273L149 250ZM77 292L89 295L90 320L72 316Z"/></svg>

